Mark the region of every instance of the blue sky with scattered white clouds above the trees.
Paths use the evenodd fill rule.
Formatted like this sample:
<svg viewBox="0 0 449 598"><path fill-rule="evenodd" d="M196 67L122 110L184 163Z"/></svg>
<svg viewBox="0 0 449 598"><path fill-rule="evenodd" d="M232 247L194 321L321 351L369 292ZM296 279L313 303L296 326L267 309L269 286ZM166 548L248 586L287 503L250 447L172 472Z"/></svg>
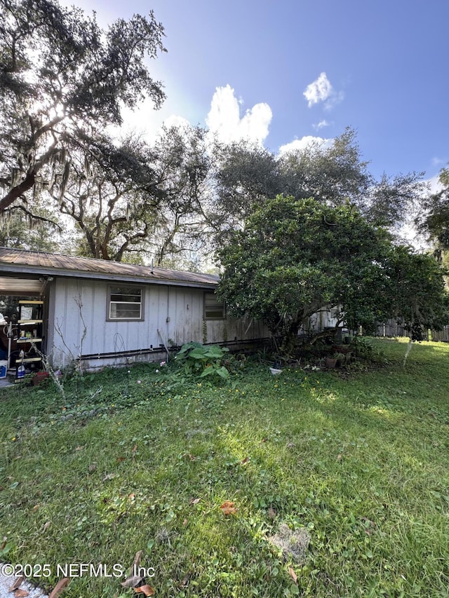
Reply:
<svg viewBox="0 0 449 598"><path fill-rule="evenodd" d="M71 3L72 4L72 3ZM131 118L249 135L277 153L357 131L382 172L434 177L449 161L446 0L79 0L102 25L154 10L168 53L150 64L167 100Z"/></svg>

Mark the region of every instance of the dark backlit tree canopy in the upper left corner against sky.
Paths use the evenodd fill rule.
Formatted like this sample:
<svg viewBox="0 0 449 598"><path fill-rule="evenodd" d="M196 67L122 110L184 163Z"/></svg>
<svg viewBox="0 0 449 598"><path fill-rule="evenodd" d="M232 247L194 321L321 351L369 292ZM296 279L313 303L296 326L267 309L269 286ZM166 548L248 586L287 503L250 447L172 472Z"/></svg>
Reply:
<svg viewBox="0 0 449 598"><path fill-rule="evenodd" d="M153 13L103 31L95 15L56 0L0 0L0 8L1 213L63 183L72 148L120 125L123 106L148 96L159 107L165 95L145 64L164 50Z"/></svg>

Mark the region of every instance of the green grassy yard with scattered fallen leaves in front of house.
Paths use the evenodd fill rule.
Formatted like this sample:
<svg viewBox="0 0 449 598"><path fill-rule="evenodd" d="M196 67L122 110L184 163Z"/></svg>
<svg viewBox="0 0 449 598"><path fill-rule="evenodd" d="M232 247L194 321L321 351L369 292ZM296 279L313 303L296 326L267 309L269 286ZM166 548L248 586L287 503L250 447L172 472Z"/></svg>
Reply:
<svg viewBox="0 0 449 598"><path fill-rule="evenodd" d="M74 564L65 598L144 596L121 586L140 550L156 597L447 598L449 345L403 368L403 342L372 342L387 364L344 375L3 390L0 560L48 564L47 589Z"/></svg>

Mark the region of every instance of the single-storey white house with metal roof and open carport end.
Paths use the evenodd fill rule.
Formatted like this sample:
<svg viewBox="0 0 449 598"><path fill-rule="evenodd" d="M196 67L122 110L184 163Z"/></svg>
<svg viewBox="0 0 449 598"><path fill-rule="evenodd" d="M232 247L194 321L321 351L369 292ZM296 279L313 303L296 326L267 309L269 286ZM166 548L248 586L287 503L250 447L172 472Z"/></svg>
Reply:
<svg viewBox="0 0 449 598"><path fill-rule="evenodd" d="M41 310L27 319L19 311L11 351L25 351L32 363L39 345L53 367L74 359L88 369L161 360L189 341L237 349L266 340L260 322L227 318L217 283L210 274L0 247L0 296Z"/></svg>

